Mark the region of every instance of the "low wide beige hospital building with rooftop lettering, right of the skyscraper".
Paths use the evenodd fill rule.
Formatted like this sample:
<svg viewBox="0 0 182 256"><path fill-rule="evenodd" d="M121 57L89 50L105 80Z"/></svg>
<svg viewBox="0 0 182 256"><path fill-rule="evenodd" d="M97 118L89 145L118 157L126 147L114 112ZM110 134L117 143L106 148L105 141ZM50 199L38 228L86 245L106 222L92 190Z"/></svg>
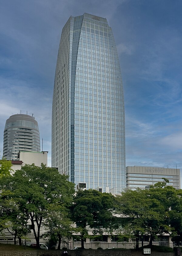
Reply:
<svg viewBox="0 0 182 256"><path fill-rule="evenodd" d="M180 169L151 166L126 166L126 188L135 190L137 187L145 189L163 178L169 180L167 185L180 189Z"/></svg>

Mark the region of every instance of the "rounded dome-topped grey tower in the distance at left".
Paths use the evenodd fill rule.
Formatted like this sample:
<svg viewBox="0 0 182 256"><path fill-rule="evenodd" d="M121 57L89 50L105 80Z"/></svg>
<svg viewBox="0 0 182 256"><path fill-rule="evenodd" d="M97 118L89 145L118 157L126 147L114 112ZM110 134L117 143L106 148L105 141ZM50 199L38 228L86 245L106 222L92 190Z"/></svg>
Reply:
<svg viewBox="0 0 182 256"><path fill-rule="evenodd" d="M38 123L29 115L13 115L5 123L3 157L16 160L19 151L40 151Z"/></svg>

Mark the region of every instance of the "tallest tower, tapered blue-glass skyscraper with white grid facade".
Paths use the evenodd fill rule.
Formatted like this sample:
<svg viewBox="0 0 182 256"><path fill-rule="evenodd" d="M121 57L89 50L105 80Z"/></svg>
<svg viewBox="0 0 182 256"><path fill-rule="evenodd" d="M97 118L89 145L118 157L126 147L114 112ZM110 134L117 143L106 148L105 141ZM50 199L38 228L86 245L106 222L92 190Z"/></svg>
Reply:
<svg viewBox="0 0 182 256"><path fill-rule="evenodd" d="M123 86L105 18L71 16L62 29L52 104L52 166L87 189L104 192L109 187L119 193L126 187Z"/></svg>

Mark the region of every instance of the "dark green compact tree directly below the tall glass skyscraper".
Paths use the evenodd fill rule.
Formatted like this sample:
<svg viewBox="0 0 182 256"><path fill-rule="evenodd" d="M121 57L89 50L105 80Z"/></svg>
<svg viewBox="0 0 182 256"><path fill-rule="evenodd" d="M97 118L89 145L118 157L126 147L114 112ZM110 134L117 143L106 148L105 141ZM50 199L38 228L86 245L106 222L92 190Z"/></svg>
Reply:
<svg viewBox="0 0 182 256"><path fill-rule="evenodd" d="M102 234L103 229L113 229L114 197L97 190L78 190L71 207L71 218L79 228L81 247L84 249L84 238L88 237L86 226L93 229L93 235Z"/></svg>

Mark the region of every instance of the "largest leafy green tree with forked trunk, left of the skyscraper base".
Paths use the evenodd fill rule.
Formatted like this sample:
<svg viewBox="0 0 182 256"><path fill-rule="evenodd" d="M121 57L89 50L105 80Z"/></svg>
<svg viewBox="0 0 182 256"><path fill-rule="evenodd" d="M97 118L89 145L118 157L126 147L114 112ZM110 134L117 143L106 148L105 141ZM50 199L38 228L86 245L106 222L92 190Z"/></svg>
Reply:
<svg viewBox="0 0 182 256"><path fill-rule="evenodd" d="M45 165L25 165L12 176L11 182L1 184L0 189L10 191L9 197L14 200L19 212L28 214L37 247L40 239L42 220L47 216L50 204L63 207L71 204L75 192L74 184L68 176L60 175L56 169ZM35 229L37 226L37 232Z"/></svg>

